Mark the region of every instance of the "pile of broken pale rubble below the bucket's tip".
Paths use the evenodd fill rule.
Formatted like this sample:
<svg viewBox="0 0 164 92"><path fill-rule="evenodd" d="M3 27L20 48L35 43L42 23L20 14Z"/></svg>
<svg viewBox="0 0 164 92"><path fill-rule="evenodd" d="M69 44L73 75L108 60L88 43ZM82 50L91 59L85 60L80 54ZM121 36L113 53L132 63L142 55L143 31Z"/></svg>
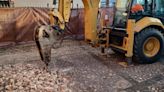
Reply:
<svg viewBox="0 0 164 92"><path fill-rule="evenodd" d="M33 64L0 66L0 92L71 92L68 79Z"/></svg>

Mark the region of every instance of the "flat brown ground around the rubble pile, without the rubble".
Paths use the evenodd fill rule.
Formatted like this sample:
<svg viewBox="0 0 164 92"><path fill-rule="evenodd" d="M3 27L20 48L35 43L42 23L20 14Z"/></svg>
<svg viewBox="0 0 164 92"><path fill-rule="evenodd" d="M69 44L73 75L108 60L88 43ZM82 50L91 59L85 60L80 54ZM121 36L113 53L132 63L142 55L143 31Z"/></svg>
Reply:
<svg viewBox="0 0 164 92"><path fill-rule="evenodd" d="M41 63L35 44L0 50L0 65ZM164 92L164 59L123 67L118 54L101 55L82 41L65 41L52 51L52 70L69 79L72 92Z"/></svg>

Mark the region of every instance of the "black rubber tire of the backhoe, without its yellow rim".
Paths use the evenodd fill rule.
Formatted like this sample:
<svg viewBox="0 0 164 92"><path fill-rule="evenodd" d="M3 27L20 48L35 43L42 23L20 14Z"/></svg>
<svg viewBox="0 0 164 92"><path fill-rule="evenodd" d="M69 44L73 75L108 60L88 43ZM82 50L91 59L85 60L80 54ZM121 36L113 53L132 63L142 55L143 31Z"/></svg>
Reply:
<svg viewBox="0 0 164 92"><path fill-rule="evenodd" d="M150 37L155 37L160 42L160 50L153 57L147 57L143 51L144 42ZM140 33L135 35L133 61L140 64L155 63L162 57L163 49L164 49L164 36L162 35L162 33L155 28L146 28Z"/></svg>

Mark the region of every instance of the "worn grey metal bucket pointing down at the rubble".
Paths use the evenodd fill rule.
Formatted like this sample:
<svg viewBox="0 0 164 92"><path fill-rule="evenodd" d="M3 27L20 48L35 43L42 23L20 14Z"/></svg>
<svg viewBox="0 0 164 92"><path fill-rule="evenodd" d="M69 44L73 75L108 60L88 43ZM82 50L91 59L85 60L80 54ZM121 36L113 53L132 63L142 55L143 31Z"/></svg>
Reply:
<svg viewBox="0 0 164 92"><path fill-rule="evenodd" d="M59 43L59 32L49 25L42 25L36 28L35 42L42 61L48 66L51 61L51 49Z"/></svg>

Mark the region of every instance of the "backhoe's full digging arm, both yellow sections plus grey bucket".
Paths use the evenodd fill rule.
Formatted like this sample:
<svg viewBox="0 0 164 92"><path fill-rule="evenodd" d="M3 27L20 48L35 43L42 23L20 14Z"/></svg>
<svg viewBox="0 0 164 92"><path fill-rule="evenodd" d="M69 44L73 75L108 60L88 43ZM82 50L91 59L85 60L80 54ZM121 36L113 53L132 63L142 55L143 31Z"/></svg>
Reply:
<svg viewBox="0 0 164 92"><path fill-rule="evenodd" d="M84 3L85 16L85 38L86 40L96 40L96 22L100 0L82 0ZM60 35L63 34L66 23L71 15L72 0L59 0L58 10L52 9L49 12L50 25L41 25L35 30L35 42L42 61L49 65L51 61L51 49L60 43Z"/></svg>

